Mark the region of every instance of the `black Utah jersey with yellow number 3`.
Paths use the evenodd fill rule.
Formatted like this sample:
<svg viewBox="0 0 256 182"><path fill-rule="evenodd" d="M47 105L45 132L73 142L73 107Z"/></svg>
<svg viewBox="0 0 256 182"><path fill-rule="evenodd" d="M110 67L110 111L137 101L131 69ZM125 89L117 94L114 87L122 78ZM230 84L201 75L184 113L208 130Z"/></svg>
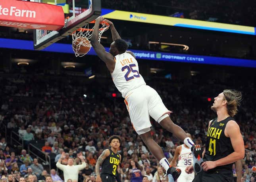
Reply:
<svg viewBox="0 0 256 182"><path fill-rule="evenodd" d="M120 155L117 152L113 152L111 149L110 155L103 161L102 167L101 167L101 174L111 174L113 176L117 175L117 167L120 163Z"/></svg>

